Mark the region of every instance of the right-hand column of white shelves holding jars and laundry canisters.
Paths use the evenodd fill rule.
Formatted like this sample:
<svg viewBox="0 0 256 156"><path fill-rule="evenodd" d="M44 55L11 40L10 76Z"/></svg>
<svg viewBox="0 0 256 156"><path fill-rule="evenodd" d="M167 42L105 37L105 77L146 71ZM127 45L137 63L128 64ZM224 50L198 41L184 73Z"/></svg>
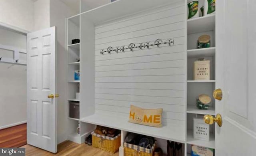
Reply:
<svg viewBox="0 0 256 156"><path fill-rule="evenodd" d="M199 1L199 8L202 6ZM197 49L198 37L207 34L210 36L210 47ZM215 115L215 100L212 93L215 89L215 14L192 18L187 20L187 156L191 155L191 145L215 148L215 129L210 125L210 141L196 140L193 137L193 118L202 118L204 115ZM204 57L210 60L210 80L194 80L194 61ZM200 94L209 95L212 98L208 110L200 110L196 107L196 99Z"/></svg>

